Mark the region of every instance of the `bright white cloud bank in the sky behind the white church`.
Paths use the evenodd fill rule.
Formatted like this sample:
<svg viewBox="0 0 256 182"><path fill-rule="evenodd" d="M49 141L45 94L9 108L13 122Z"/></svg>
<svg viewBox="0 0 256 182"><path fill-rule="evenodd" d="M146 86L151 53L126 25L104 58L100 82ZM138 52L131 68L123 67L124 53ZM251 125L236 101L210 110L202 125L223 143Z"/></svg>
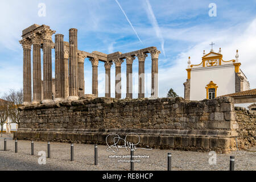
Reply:
<svg viewBox="0 0 256 182"><path fill-rule="evenodd" d="M200 29L197 30L198 31L193 31L193 34L201 35L200 42L188 50L181 50L177 59L174 60L174 66L159 69L160 97L166 97L166 90L170 88L174 88L179 96L184 97L183 82L187 79L187 71L185 71L185 69L187 68L188 56L191 56L192 64L199 64L203 56L203 50L209 52L209 43L212 41L215 42L217 46L221 47L224 60L235 59L236 50L239 50L240 62L242 64L241 69L248 78L251 89L256 88L256 19L250 22L247 27L241 24L240 26L230 27L225 31L214 30L216 31L215 36L207 36L209 32L203 32ZM183 39L183 36L175 36L175 38ZM191 39L195 38L191 37ZM219 47L215 46L214 51L217 52Z"/></svg>

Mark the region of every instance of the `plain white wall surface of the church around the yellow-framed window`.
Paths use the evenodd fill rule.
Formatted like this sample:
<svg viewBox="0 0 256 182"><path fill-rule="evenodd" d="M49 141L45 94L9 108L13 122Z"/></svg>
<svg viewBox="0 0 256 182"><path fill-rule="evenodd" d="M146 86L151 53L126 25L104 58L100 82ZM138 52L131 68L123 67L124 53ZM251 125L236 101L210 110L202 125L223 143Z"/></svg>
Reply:
<svg viewBox="0 0 256 182"><path fill-rule="evenodd" d="M192 69L190 100L200 101L207 98L205 87L210 81L213 81L218 86L216 97L236 92L234 65L228 64Z"/></svg>

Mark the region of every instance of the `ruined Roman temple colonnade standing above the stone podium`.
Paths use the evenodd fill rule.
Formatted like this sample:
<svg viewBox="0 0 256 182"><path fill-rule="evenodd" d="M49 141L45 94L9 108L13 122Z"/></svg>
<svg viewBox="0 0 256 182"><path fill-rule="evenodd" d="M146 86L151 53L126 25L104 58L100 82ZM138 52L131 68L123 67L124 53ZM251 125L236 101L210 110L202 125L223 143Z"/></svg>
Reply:
<svg viewBox="0 0 256 182"><path fill-rule="evenodd" d="M84 97L84 60L92 63L92 94L98 97L98 62L105 63L105 97L110 97L110 69L115 65L115 98L121 98L121 67L126 60L126 97L133 98L133 61L139 60L138 98L144 98L144 61L148 54L152 59L151 96L158 97L158 56L156 47L148 47L138 51L109 55L98 51L92 53L80 51L77 47L77 30L69 30L69 42L64 42L64 35L52 35L56 31L49 26L33 24L22 31L20 44L23 47L23 104L41 104L63 100L79 100ZM31 56L31 48L32 56ZM43 79L41 65L41 49L43 49ZM55 49L55 78L52 78L52 49ZM32 57L32 71L31 71ZM31 74L32 72L32 74ZM31 79L32 76L32 79ZM31 83L31 80L32 83ZM33 88L33 89L32 89ZM32 90L32 91L31 91ZM33 92L33 93L32 93ZM86 97L86 96L85 96Z"/></svg>

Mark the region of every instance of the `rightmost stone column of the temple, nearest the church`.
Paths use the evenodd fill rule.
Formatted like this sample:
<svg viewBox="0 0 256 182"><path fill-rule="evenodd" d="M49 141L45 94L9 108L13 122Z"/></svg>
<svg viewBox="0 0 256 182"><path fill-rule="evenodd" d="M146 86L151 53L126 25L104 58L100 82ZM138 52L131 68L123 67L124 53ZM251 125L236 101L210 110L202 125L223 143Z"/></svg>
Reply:
<svg viewBox="0 0 256 182"><path fill-rule="evenodd" d="M158 97L158 56L160 51L154 49L150 51L152 66L151 66L151 97Z"/></svg>

